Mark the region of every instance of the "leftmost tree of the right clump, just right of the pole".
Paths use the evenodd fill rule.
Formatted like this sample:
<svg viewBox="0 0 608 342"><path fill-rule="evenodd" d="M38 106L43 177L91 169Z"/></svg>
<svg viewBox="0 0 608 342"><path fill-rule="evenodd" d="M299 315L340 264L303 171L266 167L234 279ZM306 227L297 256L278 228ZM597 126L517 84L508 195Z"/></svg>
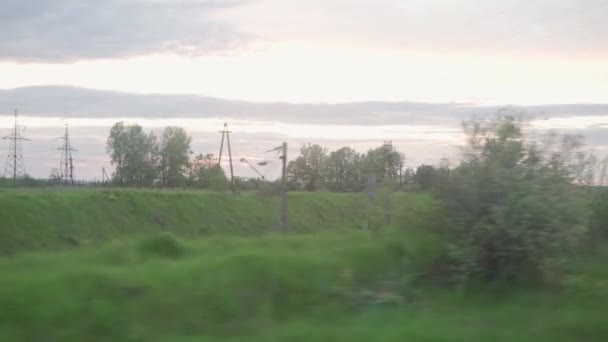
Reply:
<svg viewBox="0 0 608 342"><path fill-rule="evenodd" d="M326 148L311 144L302 146L300 155L289 162L287 168L291 186L306 191L317 190L318 185L324 181L326 160Z"/></svg>

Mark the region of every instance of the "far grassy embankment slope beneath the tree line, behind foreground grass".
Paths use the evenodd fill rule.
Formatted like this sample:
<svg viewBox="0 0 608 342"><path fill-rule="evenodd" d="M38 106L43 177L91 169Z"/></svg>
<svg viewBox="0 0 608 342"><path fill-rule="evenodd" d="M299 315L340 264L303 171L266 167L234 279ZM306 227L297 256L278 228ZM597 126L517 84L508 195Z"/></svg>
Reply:
<svg viewBox="0 0 608 342"><path fill-rule="evenodd" d="M290 229L361 227L363 195L291 194ZM275 197L134 190L2 190L0 254L169 231L179 236L277 229Z"/></svg>

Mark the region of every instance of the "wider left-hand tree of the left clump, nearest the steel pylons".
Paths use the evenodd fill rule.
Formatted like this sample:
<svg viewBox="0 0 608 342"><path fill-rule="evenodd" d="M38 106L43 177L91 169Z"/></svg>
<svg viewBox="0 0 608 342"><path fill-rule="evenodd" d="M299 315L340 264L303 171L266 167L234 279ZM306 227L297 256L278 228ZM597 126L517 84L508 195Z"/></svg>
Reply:
<svg viewBox="0 0 608 342"><path fill-rule="evenodd" d="M156 178L156 136L139 125L118 122L110 129L106 151L115 165L119 185L150 186Z"/></svg>

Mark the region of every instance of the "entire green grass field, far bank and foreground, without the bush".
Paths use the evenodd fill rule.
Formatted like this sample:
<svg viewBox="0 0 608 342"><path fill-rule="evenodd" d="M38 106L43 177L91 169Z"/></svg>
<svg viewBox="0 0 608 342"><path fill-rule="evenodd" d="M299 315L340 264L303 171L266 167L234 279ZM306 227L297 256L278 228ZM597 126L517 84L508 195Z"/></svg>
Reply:
<svg viewBox="0 0 608 342"><path fill-rule="evenodd" d="M363 231L361 195L296 194L293 233L281 236L268 197L2 192L0 340L608 337L605 246L564 265L551 288L438 286L422 274L438 253L421 234L430 198L393 198L391 226ZM382 220L376 208L373 226Z"/></svg>

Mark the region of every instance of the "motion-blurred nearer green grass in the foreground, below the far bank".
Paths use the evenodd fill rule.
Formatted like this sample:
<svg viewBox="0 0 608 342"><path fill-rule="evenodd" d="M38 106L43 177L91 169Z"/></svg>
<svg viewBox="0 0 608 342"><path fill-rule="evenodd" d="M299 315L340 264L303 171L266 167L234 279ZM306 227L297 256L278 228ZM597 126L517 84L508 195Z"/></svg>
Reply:
<svg viewBox="0 0 608 342"><path fill-rule="evenodd" d="M0 341L605 341L608 250L561 291L457 294L365 232L160 236L0 259ZM414 278L415 279L415 278Z"/></svg>

